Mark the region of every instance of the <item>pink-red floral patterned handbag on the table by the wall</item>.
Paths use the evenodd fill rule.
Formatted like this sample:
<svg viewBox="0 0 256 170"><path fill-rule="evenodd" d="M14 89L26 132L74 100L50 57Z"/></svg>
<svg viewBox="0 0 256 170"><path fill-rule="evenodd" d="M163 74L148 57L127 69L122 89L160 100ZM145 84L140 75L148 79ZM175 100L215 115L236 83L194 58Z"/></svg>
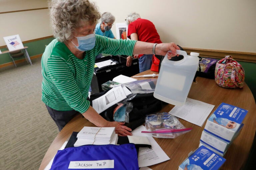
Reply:
<svg viewBox="0 0 256 170"><path fill-rule="evenodd" d="M219 60L215 67L215 82L220 87L243 88L245 72L241 64L231 55Z"/></svg>

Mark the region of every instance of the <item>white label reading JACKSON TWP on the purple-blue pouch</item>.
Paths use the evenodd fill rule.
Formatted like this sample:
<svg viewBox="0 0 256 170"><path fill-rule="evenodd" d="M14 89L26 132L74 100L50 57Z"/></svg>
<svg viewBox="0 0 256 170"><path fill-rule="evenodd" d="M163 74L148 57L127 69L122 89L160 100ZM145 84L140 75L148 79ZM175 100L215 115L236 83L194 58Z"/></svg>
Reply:
<svg viewBox="0 0 256 170"><path fill-rule="evenodd" d="M114 168L114 160L70 161L68 169Z"/></svg>

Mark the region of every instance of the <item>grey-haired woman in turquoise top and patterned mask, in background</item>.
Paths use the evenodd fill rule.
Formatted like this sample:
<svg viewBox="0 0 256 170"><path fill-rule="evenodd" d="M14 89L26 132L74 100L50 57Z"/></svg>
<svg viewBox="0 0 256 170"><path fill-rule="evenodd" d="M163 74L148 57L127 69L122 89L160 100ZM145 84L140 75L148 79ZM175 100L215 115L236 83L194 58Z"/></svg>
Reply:
<svg viewBox="0 0 256 170"><path fill-rule="evenodd" d="M101 22L96 25L95 34L115 39L114 34L110 30L112 25L114 25L115 17L110 12L104 12L100 20Z"/></svg>

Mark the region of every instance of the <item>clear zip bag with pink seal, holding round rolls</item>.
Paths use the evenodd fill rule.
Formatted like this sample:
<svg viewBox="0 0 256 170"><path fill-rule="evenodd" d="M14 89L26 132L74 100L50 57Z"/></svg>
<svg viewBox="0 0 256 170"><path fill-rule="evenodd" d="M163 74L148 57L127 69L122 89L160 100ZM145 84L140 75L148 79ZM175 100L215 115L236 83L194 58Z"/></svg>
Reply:
<svg viewBox="0 0 256 170"><path fill-rule="evenodd" d="M142 133L152 134L158 138L176 138L177 136L187 133L192 128L185 128L180 121L167 112L147 115L145 128Z"/></svg>

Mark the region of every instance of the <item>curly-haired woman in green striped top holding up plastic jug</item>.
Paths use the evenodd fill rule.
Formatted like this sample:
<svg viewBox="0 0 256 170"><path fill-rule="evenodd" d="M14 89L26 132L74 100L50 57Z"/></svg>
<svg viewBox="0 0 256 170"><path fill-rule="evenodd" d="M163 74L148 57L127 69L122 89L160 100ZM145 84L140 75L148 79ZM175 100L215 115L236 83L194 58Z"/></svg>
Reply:
<svg viewBox="0 0 256 170"><path fill-rule="evenodd" d="M115 127L118 135L132 135L121 122L109 122L91 106L88 90L99 53L132 55L154 53L168 58L179 49L174 43L153 44L115 40L95 35L100 13L88 0L52 0L50 17L54 39L42 56L42 101L61 130L76 114L82 114L98 127Z"/></svg>

